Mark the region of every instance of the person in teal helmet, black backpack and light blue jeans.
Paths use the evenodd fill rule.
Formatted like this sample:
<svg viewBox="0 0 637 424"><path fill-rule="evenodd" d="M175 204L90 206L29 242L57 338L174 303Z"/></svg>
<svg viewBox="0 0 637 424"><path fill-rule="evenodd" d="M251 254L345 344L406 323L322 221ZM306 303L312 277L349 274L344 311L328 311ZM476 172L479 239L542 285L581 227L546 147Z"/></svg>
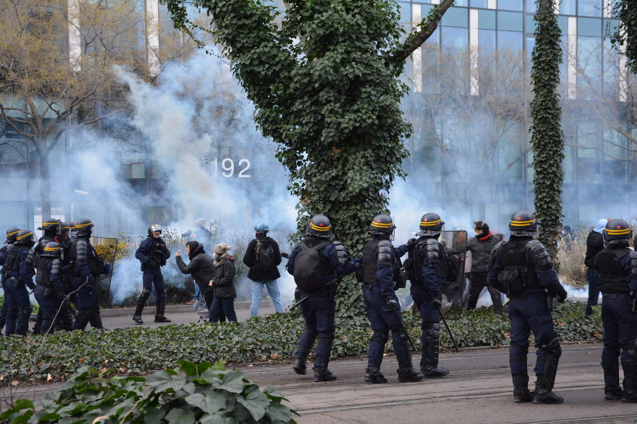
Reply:
<svg viewBox="0 0 637 424"><path fill-rule="evenodd" d="M248 278L252 280L250 315L252 317L259 315L259 303L261 303L264 285L272 298L275 311L282 313L283 304L281 303L278 282L276 282L281 277L278 268L276 268L281 263L278 243L273 238L268 237L269 228L265 222L256 224L254 231L255 238L248 244L243 256L243 263L250 267Z"/></svg>

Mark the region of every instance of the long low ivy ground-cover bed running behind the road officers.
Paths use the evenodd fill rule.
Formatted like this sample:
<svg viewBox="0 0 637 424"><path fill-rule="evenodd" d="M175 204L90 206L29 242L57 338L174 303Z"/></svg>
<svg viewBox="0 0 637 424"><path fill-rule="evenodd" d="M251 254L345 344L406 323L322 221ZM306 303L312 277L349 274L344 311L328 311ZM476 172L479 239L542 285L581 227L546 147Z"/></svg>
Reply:
<svg viewBox="0 0 637 424"><path fill-rule="evenodd" d="M562 341L601 338L599 313L584 315L585 303L555 304L555 328ZM414 343L420 341L420 318L403 313ZM448 321L458 346L497 346L508 343L509 322L490 308L464 313L460 320ZM0 339L0 377L7 381L66 380L82 366L110 375L138 375L189 362L229 362L241 364L263 360L291 360L303 331L299 311L254 317L238 324L165 325L156 329L124 329L59 332L47 336ZM350 325L336 320L332 357L357 356L367 352L368 325ZM452 347L441 324L440 343ZM387 345L387 352L391 352ZM33 359L33 360L31 360ZM33 372L31 374L31 372Z"/></svg>

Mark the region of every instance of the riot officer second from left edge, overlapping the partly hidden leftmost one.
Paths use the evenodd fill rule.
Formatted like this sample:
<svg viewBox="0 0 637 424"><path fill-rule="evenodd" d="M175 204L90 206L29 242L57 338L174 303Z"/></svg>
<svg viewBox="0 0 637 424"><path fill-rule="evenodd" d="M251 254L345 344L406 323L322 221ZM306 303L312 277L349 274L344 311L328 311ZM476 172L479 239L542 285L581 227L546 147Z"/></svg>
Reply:
<svg viewBox="0 0 637 424"><path fill-rule="evenodd" d="M33 269L27 264L27 256L35 244L33 231L21 229L15 235L13 249L9 250L4 261L3 270L6 272L6 289L4 301L7 303L5 334L25 336L29 330L31 316L31 301L29 289L34 289ZM25 287L26 286L26 287Z"/></svg>

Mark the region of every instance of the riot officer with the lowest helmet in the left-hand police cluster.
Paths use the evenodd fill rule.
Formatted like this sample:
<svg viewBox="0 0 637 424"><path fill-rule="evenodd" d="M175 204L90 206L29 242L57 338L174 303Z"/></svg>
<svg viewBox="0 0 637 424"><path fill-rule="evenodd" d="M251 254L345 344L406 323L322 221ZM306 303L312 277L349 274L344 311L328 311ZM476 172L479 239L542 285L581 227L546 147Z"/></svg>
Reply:
<svg viewBox="0 0 637 424"><path fill-rule="evenodd" d="M48 242L38 255L36 264L36 288L34 294L42 311L42 333L55 331L55 315L61 310L64 286L62 285L62 247Z"/></svg>

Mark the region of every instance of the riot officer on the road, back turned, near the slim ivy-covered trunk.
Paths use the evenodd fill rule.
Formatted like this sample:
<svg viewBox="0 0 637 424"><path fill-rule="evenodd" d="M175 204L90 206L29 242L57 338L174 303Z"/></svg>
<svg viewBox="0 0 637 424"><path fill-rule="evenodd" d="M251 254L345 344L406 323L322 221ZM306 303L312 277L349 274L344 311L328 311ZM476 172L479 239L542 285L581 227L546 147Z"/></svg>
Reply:
<svg viewBox="0 0 637 424"><path fill-rule="evenodd" d="M499 242L489 258L489 284L510 299L511 346L509 362L515 402L560 404L564 398L552 392L557 364L562 355L555 336L549 305L554 296L566 300L566 290L557 279L547 249L534 236L538 222L528 210L519 210L509 223L511 238ZM529 392L526 357L533 331L537 360L535 391Z"/></svg>

